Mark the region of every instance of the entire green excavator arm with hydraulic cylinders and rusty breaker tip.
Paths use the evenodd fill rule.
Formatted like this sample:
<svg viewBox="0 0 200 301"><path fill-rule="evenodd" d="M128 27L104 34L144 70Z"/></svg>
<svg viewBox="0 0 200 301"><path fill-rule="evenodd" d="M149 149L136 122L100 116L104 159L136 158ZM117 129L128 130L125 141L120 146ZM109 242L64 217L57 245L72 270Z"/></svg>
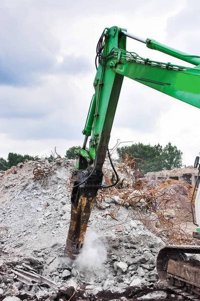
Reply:
<svg viewBox="0 0 200 301"><path fill-rule="evenodd" d="M128 52L127 36L146 44L150 49L161 51L195 67L151 61L135 52ZM102 167L124 76L200 108L199 56L188 55L154 40L144 40L115 26L105 29L98 41L96 67L93 83L95 94L82 131L85 139L83 147L76 150L76 169L72 174L71 221L65 254L73 259L83 247L96 193L98 189L105 188L102 186ZM91 137L87 151L89 136Z"/></svg>

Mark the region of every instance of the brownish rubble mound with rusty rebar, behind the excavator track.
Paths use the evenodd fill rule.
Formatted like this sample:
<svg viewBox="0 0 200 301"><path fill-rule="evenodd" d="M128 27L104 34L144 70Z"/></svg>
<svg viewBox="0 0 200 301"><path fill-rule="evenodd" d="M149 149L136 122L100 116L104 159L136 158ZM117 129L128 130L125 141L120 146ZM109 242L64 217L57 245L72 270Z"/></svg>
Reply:
<svg viewBox="0 0 200 301"><path fill-rule="evenodd" d="M194 187L174 179L152 180L153 173L149 173L150 178L147 174L147 177L138 179L135 166L134 159L128 157L123 164L116 163L118 173L123 171L125 176L123 182L125 187L118 186L117 189L112 188L113 191L101 194L101 199L115 195L119 197L119 205L111 210L110 215L115 218L115 213L121 206L131 206L133 219L141 221L165 243L196 243L191 233L193 223L190 207ZM101 206L102 204L99 207Z"/></svg>

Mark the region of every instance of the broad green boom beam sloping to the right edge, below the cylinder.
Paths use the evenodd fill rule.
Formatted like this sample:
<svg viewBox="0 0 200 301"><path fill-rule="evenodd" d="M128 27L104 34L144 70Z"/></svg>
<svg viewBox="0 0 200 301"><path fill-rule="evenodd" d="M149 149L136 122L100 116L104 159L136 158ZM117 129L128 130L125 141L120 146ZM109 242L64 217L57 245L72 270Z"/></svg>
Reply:
<svg viewBox="0 0 200 301"><path fill-rule="evenodd" d="M200 70L195 70L198 73L193 74L192 68L177 71L127 60L121 60L114 70L118 74L200 108Z"/></svg>

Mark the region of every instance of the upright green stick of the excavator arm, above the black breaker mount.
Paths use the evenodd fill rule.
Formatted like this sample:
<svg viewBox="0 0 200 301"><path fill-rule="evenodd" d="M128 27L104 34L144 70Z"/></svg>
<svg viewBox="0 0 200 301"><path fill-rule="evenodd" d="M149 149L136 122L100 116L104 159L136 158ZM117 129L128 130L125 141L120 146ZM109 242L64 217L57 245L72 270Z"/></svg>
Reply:
<svg viewBox="0 0 200 301"><path fill-rule="evenodd" d="M120 36L118 27L112 27L106 31L103 55L108 55L114 49L126 49L126 37ZM103 60L101 62L103 64ZM92 159L97 155L97 170L102 169L105 161L124 78L111 69L110 64L112 65L112 63L113 58L109 59L105 66L98 66L93 83L95 97L90 105L86 125L83 129L83 133L91 133L89 155ZM113 65L115 66L115 63Z"/></svg>

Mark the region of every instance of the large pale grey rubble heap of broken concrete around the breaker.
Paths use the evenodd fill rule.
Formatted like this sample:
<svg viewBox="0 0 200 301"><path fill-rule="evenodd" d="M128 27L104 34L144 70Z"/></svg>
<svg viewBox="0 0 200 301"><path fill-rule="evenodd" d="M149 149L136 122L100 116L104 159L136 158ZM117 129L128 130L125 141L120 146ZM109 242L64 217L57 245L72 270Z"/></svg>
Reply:
<svg viewBox="0 0 200 301"><path fill-rule="evenodd" d="M108 163L105 168L111 181ZM111 291L110 299L122 301L167 300L155 277L155 259L164 243L138 220L155 212L147 212L140 191L127 189L128 199L122 195L125 169L119 171L121 190L99 194L82 253L74 261L64 256L73 169L73 160L40 159L0 175L0 301L11 296L13 301L104 299L105 290ZM132 170L129 181L130 175L133 180Z"/></svg>

